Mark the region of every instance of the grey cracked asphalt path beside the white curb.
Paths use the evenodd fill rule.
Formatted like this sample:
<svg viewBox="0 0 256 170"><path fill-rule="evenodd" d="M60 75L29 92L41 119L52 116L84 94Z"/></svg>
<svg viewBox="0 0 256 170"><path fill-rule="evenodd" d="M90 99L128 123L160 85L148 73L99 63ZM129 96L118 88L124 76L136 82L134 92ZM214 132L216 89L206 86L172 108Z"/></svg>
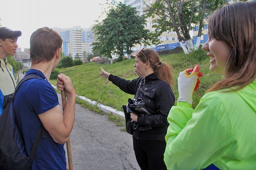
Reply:
<svg viewBox="0 0 256 170"><path fill-rule="evenodd" d="M58 97L61 104L61 95ZM70 134L74 170L139 170L132 135L120 128L107 115L76 104Z"/></svg>

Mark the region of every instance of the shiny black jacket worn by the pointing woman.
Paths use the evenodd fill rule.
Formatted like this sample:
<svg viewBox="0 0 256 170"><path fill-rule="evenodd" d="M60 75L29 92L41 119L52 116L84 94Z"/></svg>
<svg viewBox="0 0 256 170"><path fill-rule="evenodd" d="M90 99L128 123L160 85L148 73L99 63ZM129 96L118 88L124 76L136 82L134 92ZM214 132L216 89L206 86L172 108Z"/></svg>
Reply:
<svg viewBox="0 0 256 170"><path fill-rule="evenodd" d="M175 101L170 85L160 80L155 73L134 80L110 74L108 79L122 91L135 95L134 98L141 98L150 112L145 116L138 116L138 124L152 129L136 130L133 136L143 140L164 140L169 126L167 116Z"/></svg>

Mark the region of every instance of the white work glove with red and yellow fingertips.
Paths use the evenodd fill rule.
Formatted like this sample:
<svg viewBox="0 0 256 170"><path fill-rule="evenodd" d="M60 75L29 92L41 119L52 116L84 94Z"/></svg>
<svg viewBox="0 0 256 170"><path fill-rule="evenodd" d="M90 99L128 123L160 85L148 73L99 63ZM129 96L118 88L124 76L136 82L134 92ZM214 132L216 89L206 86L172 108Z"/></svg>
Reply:
<svg viewBox="0 0 256 170"><path fill-rule="evenodd" d="M199 65L193 68L188 68L180 72L178 77L178 91L179 98L177 101L188 102L192 105L193 92L199 87L200 80L198 77L202 77L203 74L199 71Z"/></svg>

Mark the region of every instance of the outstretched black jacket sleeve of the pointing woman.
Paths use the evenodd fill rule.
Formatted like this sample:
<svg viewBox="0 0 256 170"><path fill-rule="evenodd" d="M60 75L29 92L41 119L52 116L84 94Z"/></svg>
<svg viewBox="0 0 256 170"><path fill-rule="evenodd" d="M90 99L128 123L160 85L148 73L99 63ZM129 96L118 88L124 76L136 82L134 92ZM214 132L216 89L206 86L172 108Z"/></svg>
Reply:
<svg viewBox="0 0 256 170"><path fill-rule="evenodd" d="M110 74L108 77L108 80L112 81L112 83L117 87L119 87L122 91L124 91L125 93L133 94L133 95L136 92L136 84L141 79L142 77L138 77L134 80L125 80L113 74Z"/></svg>

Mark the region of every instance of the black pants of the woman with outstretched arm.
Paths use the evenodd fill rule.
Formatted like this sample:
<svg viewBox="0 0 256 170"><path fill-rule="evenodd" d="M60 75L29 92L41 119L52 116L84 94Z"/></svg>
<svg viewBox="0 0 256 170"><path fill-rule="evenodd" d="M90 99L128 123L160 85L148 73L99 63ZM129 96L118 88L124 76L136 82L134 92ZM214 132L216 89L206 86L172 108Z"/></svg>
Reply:
<svg viewBox="0 0 256 170"><path fill-rule="evenodd" d="M141 170L167 170L164 163L165 140L150 141L133 137L133 149Z"/></svg>

